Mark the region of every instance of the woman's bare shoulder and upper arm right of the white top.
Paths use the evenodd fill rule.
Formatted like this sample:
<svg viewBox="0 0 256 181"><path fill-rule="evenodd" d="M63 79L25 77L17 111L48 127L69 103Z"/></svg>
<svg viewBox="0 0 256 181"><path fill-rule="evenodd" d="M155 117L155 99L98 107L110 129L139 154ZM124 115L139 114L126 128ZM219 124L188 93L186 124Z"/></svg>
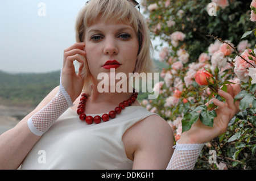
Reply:
<svg viewBox="0 0 256 181"><path fill-rule="evenodd" d="M134 124L126 138L131 149L126 153L134 161L133 169L166 169L174 145L172 128L166 120L158 115L148 116Z"/></svg>

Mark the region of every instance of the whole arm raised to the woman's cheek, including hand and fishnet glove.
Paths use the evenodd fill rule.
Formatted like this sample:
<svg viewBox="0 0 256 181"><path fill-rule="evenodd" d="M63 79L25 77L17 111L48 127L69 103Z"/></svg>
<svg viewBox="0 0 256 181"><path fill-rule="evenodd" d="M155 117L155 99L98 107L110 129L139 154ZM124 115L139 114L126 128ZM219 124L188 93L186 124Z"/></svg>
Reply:
<svg viewBox="0 0 256 181"><path fill-rule="evenodd" d="M0 169L17 169L42 134L81 94L84 85L84 78L81 76L84 60L78 54L85 56L84 47L85 43L75 43L64 50L60 86L53 89L13 129L0 135ZM81 63L78 74L74 61Z"/></svg>

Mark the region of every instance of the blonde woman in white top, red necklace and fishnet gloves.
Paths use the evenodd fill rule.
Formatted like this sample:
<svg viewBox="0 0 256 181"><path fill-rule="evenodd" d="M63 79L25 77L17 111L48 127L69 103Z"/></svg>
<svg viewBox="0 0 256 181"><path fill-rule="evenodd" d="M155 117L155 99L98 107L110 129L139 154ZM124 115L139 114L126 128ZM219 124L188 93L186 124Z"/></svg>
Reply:
<svg viewBox="0 0 256 181"><path fill-rule="evenodd" d="M129 77L154 68L147 25L134 2L92 0L80 11L77 43L64 50L60 86L0 136L0 169L16 169L20 164L22 169L188 169L204 142L226 130L237 112L233 97L239 86L234 90L229 86L229 93L219 91L227 103L213 99L221 108L214 127L197 121L183 133L174 155L171 127L138 103L129 81L127 91L99 90L100 73L109 75L110 82L113 69L115 75ZM75 60L80 62L77 74ZM189 151L197 154L180 159Z"/></svg>

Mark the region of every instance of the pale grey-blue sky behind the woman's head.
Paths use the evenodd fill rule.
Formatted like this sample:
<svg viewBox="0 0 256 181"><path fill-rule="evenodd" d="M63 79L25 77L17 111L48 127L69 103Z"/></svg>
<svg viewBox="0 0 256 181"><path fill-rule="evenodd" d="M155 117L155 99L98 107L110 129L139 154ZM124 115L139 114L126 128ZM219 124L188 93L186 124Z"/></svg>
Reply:
<svg viewBox="0 0 256 181"><path fill-rule="evenodd" d="M76 16L86 1L1 0L0 70L8 73L60 70L63 50L76 43Z"/></svg>

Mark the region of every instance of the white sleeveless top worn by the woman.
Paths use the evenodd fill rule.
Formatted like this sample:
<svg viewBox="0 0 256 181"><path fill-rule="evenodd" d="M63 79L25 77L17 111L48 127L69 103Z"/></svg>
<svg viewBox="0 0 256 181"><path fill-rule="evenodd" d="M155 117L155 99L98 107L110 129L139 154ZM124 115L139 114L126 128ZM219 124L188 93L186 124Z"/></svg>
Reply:
<svg viewBox="0 0 256 181"><path fill-rule="evenodd" d="M123 133L153 114L144 107L130 106L115 119L88 125L68 108L28 153L21 169L132 169Z"/></svg>

